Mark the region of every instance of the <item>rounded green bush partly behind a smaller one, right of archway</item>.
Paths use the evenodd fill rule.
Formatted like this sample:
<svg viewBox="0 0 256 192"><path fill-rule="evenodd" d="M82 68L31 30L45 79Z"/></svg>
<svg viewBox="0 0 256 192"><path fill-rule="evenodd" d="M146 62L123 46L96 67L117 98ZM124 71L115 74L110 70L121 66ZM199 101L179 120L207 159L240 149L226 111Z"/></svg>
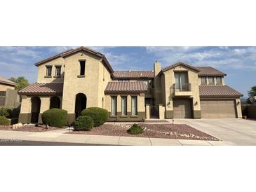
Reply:
<svg viewBox="0 0 256 192"><path fill-rule="evenodd" d="M98 127L107 121L108 112L100 107L89 107L84 109L81 115L93 118L94 126Z"/></svg>

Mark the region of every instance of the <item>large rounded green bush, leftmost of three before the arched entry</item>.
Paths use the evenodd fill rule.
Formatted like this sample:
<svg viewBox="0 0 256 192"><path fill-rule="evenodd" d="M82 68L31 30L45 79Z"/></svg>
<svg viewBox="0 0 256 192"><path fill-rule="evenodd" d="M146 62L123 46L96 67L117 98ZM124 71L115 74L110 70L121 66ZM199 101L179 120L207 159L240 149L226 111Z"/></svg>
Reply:
<svg viewBox="0 0 256 192"><path fill-rule="evenodd" d="M62 109L49 109L42 114L43 124L63 128L67 123L67 111Z"/></svg>

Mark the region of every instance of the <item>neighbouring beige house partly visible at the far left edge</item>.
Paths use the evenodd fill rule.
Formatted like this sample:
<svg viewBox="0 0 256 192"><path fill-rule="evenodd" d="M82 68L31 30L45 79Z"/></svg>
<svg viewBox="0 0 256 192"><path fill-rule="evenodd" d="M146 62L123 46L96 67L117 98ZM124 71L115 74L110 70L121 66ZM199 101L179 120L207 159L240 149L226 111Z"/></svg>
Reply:
<svg viewBox="0 0 256 192"><path fill-rule="evenodd" d="M13 81L0 76L0 107L18 107L20 96L18 90L15 90L15 85Z"/></svg>

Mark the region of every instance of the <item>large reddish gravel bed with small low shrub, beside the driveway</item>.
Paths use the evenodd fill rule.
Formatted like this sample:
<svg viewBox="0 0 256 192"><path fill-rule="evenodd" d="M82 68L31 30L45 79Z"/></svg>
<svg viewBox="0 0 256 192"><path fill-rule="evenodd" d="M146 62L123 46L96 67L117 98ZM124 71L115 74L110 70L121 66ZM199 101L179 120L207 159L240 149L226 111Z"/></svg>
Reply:
<svg viewBox="0 0 256 192"><path fill-rule="evenodd" d="M104 124L100 127L93 128L90 131L72 131L67 134L86 134L86 135L109 135L109 136L123 136L123 137L154 137L166 139L195 139L195 140L214 140L218 141L216 137L191 128L185 124L149 124L138 123L144 132L139 135L130 135L126 132L130 125L124 124Z"/></svg>

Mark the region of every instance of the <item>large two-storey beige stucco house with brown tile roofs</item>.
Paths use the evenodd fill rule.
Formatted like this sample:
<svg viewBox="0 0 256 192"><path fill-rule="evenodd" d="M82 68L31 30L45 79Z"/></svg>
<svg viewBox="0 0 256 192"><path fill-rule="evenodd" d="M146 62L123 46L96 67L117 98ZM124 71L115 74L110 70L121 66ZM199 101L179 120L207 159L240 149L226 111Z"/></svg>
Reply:
<svg viewBox="0 0 256 192"><path fill-rule="evenodd" d="M80 47L37 62L37 83L20 91L21 123L39 122L51 108L67 110L68 123L87 107L109 111L109 121L145 118L241 118L241 93L226 74L179 62L154 71L114 71L105 55Z"/></svg>

